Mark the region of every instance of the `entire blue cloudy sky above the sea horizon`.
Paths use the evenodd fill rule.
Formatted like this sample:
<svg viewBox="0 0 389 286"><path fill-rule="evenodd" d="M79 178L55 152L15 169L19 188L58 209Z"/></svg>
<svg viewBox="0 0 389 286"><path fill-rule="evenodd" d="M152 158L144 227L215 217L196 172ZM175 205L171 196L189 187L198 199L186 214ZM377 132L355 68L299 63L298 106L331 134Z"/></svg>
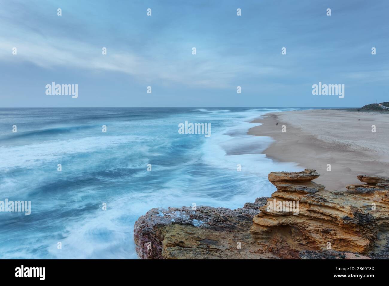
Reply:
<svg viewBox="0 0 389 286"><path fill-rule="evenodd" d="M389 101L388 12L387 0L0 0L0 107ZM52 82L78 97L47 95ZM312 95L319 82L344 98Z"/></svg>

